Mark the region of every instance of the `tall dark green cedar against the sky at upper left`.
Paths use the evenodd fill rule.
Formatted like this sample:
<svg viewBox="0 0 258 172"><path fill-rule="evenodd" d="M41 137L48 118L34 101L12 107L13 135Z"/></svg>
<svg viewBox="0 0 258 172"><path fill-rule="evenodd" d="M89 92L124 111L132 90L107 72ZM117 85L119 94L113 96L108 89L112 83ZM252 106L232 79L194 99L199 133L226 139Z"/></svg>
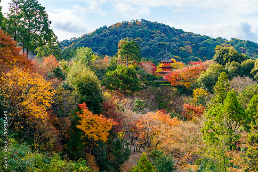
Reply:
<svg viewBox="0 0 258 172"><path fill-rule="evenodd" d="M45 7L36 0L12 0L9 4L7 32L18 42L22 42L23 53L24 48L27 48L28 57L29 50L32 51L35 46L42 47L51 41L51 22Z"/></svg>

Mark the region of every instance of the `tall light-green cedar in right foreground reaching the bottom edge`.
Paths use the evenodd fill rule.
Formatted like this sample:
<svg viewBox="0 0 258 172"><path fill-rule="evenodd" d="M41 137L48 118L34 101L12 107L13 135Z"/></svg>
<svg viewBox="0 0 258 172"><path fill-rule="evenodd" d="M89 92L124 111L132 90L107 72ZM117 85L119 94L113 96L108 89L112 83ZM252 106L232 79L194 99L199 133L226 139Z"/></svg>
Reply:
<svg viewBox="0 0 258 172"><path fill-rule="evenodd" d="M247 116L236 93L228 92L223 104L211 110L205 127L201 129L204 143L208 145L208 154L212 156L223 171L227 171L228 158L226 153L233 150L239 140L239 127L246 125L252 119Z"/></svg>

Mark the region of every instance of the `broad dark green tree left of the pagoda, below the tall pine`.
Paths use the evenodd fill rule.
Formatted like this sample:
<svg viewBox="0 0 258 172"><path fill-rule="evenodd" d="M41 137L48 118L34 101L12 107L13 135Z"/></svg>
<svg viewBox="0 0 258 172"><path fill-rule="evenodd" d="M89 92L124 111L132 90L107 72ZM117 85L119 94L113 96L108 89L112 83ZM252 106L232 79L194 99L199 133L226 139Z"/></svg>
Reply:
<svg viewBox="0 0 258 172"><path fill-rule="evenodd" d="M117 70L107 72L106 77L101 84L108 89L122 90L124 94L140 90L136 71L132 68L121 68L121 66L118 66Z"/></svg>

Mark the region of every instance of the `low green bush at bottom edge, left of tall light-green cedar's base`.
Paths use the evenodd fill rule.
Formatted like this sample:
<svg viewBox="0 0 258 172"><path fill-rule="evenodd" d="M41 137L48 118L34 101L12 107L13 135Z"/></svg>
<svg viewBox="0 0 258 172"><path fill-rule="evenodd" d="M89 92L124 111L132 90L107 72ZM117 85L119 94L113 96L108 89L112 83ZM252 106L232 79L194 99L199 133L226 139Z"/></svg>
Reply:
<svg viewBox="0 0 258 172"><path fill-rule="evenodd" d="M217 168L216 164L209 159L197 159L194 165L199 165L197 172L207 172L207 171L219 172L220 171L220 169Z"/></svg>

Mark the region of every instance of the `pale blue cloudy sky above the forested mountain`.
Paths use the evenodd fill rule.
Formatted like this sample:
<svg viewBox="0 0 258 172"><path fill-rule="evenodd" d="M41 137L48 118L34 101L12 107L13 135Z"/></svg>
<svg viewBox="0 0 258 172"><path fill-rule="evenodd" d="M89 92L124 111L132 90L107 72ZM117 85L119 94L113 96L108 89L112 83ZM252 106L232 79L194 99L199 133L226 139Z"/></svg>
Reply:
<svg viewBox="0 0 258 172"><path fill-rule="evenodd" d="M8 12L2 0L2 12ZM145 19L187 32L258 43L257 0L38 0L58 40L80 37L102 26Z"/></svg>

